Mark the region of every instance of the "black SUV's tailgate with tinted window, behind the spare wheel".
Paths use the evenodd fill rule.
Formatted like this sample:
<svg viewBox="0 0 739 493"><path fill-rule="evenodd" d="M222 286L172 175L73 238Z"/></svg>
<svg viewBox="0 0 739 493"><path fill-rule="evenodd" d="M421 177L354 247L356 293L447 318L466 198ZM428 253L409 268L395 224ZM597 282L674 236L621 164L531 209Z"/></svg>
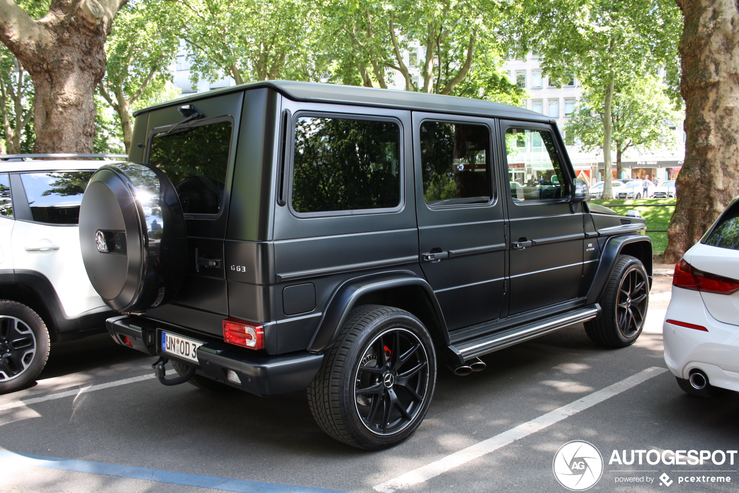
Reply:
<svg viewBox="0 0 739 493"><path fill-rule="evenodd" d="M203 116L186 123L180 123L177 106L150 112L146 122L143 160L174 185L188 234L186 274L177 297L147 315L217 334L228 316L223 248L242 99L243 92L237 92L196 101Z"/></svg>

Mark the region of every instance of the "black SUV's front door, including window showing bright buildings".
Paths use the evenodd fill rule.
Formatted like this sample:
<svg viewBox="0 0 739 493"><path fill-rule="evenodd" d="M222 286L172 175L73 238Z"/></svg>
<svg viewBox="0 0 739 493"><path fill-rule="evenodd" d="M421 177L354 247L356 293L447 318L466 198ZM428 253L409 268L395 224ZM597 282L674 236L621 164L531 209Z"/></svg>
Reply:
<svg viewBox="0 0 739 493"><path fill-rule="evenodd" d="M576 299L582 282L582 205L571 207L573 172L556 130L501 121L511 231L509 315ZM514 185L515 182L515 185Z"/></svg>

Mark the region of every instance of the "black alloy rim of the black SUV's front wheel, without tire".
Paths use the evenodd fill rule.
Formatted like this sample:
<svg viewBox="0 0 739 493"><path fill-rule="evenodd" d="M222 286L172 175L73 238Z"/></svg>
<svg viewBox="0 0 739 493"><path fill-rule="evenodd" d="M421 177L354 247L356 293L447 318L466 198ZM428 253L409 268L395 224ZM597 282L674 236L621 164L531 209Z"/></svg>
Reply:
<svg viewBox="0 0 739 493"><path fill-rule="evenodd" d="M616 302L616 323L624 339L632 338L641 331L647 317L647 298L649 298L649 279L644 268L632 265L621 276L618 301Z"/></svg>

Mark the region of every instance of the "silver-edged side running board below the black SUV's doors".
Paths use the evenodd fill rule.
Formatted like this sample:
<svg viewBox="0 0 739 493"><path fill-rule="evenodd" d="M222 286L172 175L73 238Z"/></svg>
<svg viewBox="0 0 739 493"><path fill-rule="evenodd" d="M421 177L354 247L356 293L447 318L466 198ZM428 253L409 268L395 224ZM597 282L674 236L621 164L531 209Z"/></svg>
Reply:
<svg viewBox="0 0 739 493"><path fill-rule="evenodd" d="M599 312L599 305L588 305L587 307L577 308L576 310L570 310L565 313L557 313L545 319L538 319L534 322L517 325L516 327L483 334L473 339L458 341L454 344L454 349L459 351L465 360L476 358L477 356L483 356L483 354L492 353L504 347L563 329L572 324L586 322L596 318ZM454 352L456 353L457 351Z"/></svg>

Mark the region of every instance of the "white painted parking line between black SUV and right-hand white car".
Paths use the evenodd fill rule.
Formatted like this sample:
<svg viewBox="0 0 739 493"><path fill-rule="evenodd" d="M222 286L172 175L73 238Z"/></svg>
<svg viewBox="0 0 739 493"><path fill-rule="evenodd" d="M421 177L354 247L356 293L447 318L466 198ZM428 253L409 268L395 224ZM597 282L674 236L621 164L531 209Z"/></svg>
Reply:
<svg viewBox="0 0 739 493"><path fill-rule="evenodd" d="M436 460L435 462L426 464L426 466L421 466L418 469L406 472L404 475L394 477L389 481L373 486L373 489L381 493L394 493L396 489L405 489L409 486L423 483L432 477L436 477L443 472L449 471L449 469L453 469L454 467L461 466L470 460L489 454L494 450L508 445L508 443L513 443L514 441L520 440L521 438L538 432L541 429L545 429L547 426L555 424L558 421L562 421L563 419L584 409L588 409L588 407L595 406L614 395L624 392L624 390L636 387L636 385L666 371L666 368L660 367L647 368L647 370L636 373L636 375L631 375L629 378L624 378L623 380L616 382L613 385L609 385L604 389L593 392L592 394L585 395L585 397L579 398L577 401L559 407L559 409L554 409L554 411L541 415L539 418L520 424L515 428L500 433L500 435L495 435L487 440L475 443L466 449L454 452L452 455L447 455L443 459Z"/></svg>

